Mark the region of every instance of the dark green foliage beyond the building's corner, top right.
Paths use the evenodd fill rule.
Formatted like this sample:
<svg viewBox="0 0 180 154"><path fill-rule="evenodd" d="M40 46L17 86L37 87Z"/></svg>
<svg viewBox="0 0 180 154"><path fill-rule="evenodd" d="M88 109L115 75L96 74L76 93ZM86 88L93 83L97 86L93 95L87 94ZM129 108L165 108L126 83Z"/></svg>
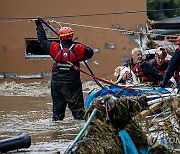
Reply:
<svg viewBox="0 0 180 154"><path fill-rule="evenodd" d="M147 15L151 20L162 20L180 16L180 10L177 8L180 8L180 0L147 0Z"/></svg>

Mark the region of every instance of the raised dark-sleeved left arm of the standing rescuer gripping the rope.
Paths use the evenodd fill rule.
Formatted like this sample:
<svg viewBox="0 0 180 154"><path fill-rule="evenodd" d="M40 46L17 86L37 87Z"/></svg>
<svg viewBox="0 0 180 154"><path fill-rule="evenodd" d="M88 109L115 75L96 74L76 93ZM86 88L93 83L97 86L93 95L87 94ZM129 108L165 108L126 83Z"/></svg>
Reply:
<svg viewBox="0 0 180 154"><path fill-rule="evenodd" d="M36 32L37 32L38 42L40 46L43 48L43 50L49 54L51 42L48 41L46 37L46 33L42 26L41 19L37 18L37 20L35 20L35 23L36 23Z"/></svg>

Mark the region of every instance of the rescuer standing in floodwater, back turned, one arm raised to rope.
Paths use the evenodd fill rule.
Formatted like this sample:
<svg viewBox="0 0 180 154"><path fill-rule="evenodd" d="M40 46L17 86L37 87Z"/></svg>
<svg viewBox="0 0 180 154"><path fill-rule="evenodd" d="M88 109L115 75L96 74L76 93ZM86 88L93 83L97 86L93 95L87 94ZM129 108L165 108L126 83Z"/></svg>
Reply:
<svg viewBox="0 0 180 154"><path fill-rule="evenodd" d="M35 23L40 46L55 61L51 79L52 120L63 120L67 105L74 119L81 120L84 118L85 109L80 72L73 69L68 61L80 67L79 62L91 58L94 52L82 43L72 40L74 32L70 27L62 27L59 30L60 42L58 43L47 39L42 18L37 18Z"/></svg>

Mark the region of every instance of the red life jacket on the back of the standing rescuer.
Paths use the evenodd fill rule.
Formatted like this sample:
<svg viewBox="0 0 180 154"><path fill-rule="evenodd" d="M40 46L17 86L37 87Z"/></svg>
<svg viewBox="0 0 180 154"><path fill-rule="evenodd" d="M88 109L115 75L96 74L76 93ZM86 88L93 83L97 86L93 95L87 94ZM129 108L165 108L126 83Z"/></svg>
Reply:
<svg viewBox="0 0 180 154"><path fill-rule="evenodd" d="M68 62L76 63L78 59L73 52L73 47L75 44L72 44L70 48L63 48L62 44L57 42L52 42L50 45L50 56L56 62L55 65L60 70L70 70L71 65ZM55 67L53 65L53 67Z"/></svg>

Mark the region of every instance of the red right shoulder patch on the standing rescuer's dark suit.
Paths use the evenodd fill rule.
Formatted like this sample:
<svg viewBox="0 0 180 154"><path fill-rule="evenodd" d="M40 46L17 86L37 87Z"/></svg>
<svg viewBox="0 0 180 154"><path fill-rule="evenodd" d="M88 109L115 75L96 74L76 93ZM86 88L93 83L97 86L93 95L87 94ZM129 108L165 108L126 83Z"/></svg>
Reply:
<svg viewBox="0 0 180 154"><path fill-rule="evenodd" d="M74 52L76 54L76 57L78 60L81 60L84 57L84 53L85 53L85 45L83 44L76 44L74 46Z"/></svg>

